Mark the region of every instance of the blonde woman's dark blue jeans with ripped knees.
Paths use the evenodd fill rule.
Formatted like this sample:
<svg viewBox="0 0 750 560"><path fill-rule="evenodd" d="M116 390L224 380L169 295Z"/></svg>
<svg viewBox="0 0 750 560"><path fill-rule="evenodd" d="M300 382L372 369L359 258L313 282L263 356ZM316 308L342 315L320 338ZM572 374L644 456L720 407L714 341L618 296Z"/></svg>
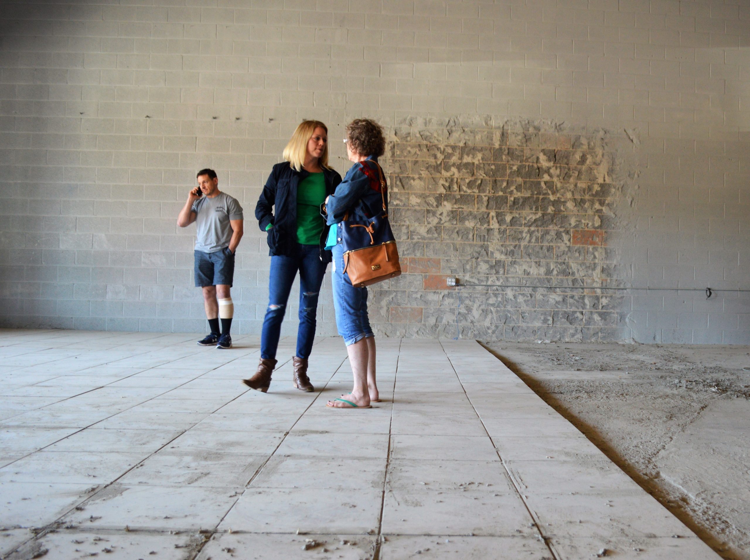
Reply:
<svg viewBox="0 0 750 560"><path fill-rule="evenodd" d="M269 277L269 307L263 319L260 335L260 357L276 358L281 322L287 310L287 300L299 271L299 328L297 329L297 358L309 358L315 338L318 295L326 274L325 262L320 261L318 245L297 244L296 256L271 257Z"/></svg>

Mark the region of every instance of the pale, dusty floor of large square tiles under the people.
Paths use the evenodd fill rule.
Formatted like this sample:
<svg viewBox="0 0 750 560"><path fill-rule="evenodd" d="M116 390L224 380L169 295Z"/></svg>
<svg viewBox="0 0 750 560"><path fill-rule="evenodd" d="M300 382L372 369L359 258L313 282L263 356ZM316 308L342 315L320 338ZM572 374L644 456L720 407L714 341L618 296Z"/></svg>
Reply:
<svg viewBox="0 0 750 560"><path fill-rule="evenodd" d="M18 460L0 489L10 516L40 531L8 526L9 546L77 558L102 554L101 537L127 557L561 560L628 538L688 555L701 544L473 341L379 341L383 402L332 410L351 388L341 340L317 340L315 392L291 386L284 358L263 394L240 382L257 339L217 352L197 338L92 334L82 349L75 332L0 332L0 359L12 349L29 376L0 371L15 392L0 441L26 454L6 457ZM65 398L37 396L53 388ZM659 539L670 532L685 538Z"/></svg>

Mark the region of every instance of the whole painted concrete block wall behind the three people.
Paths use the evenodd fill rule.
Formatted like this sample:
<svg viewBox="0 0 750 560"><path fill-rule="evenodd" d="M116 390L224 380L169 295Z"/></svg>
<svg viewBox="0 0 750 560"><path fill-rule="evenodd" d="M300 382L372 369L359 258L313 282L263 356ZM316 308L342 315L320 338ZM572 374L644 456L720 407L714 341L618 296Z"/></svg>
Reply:
<svg viewBox="0 0 750 560"><path fill-rule="evenodd" d="M193 232L179 230L175 216L196 169L211 166L246 210L234 299L240 331L259 332L269 268L252 220L260 187L302 118L329 124L343 173L338 139L347 121L366 115L389 132L384 163L409 267L373 290L381 334L750 342L750 298L741 291L750 289L744 0L3 0L0 18L1 325L202 331ZM456 123L472 139L452 138ZM538 140L514 146L482 136L503 129ZM470 204L460 186L408 178L445 172L468 185L484 179L476 165L474 175L469 165L415 175L413 162L432 154L442 162L458 146L466 164L484 163L489 148L523 148L487 162L522 165L565 150L557 142L574 136L607 139L595 147L610 148L603 161L616 182L598 181L611 193L589 197L606 199L599 214L607 220L550 228L548 217L533 221L541 206L518 208L527 221L508 228L569 237L537 247L522 240L520 260L565 265L553 265L554 274L538 274L548 265L514 268L535 277L524 280L534 289L443 289L447 274L510 282L508 262L519 259L509 251L519 243L506 237L499 247L490 237L504 226L484 203L520 199L523 178L519 196L502 183L509 177L487 177L496 190L466 193L472 210L460 208ZM468 149L478 146L479 155ZM557 179L544 181L558 189ZM558 190L531 196L549 199L555 223L585 208L581 196L568 197L573 208L559 205ZM440 239L428 238L428 218L454 212L455 226L442 223ZM452 239L446 227L455 235L471 227L472 238ZM564 252L569 258L559 259ZM598 268L570 274L573 262ZM588 289L541 287L573 281ZM614 283L730 291L706 299L702 291L598 289ZM571 303L559 307L561 298ZM517 303L527 300L533 307ZM593 311L616 323L586 324ZM582 325L569 324L581 315ZM499 316L517 325L500 327ZM319 319L322 334L335 333L326 289ZM294 327L288 322L287 334Z"/></svg>

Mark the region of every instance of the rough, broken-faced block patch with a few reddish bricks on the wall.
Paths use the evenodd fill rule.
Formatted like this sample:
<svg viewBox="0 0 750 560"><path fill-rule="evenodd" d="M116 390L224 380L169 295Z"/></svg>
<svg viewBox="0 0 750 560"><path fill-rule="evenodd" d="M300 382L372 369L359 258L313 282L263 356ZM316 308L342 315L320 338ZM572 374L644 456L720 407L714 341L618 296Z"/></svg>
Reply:
<svg viewBox="0 0 750 560"><path fill-rule="evenodd" d="M628 299L596 290L618 286L622 272L618 250L607 246L625 189L619 136L458 118L408 118L389 133L383 164L404 274L371 289L380 331L514 340L627 334ZM449 277L465 285L454 289Z"/></svg>

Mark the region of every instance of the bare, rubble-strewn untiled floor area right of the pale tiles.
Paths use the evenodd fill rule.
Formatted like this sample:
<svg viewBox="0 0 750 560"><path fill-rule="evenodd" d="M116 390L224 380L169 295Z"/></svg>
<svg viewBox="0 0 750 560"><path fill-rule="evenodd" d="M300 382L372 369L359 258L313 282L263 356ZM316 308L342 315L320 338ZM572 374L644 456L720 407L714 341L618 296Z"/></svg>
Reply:
<svg viewBox="0 0 750 560"><path fill-rule="evenodd" d="M484 345L719 555L750 560L750 347Z"/></svg>

